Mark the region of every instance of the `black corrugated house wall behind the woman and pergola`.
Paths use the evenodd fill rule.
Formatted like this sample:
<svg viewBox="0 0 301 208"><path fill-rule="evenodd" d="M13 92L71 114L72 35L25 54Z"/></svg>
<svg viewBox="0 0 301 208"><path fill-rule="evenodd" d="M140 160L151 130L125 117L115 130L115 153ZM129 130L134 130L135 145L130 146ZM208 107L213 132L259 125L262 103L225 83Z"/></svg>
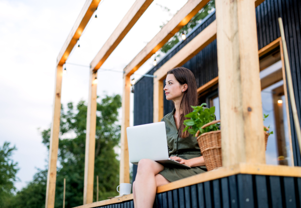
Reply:
<svg viewBox="0 0 301 208"><path fill-rule="evenodd" d="M285 39L289 54L292 81L298 116L301 118L301 1L299 0L266 0L256 8L258 48L268 45L280 37L278 20L281 17L284 24ZM215 14L211 14L204 23L197 26L185 41L177 44L148 74L153 74L173 55L183 48L190 40L198 35L205 27L215 20ZM195 57L183 65L192 70L196 77L198 87L218 75L216 40L200 51ZM287 93L288 94L288 93ZM173 110L170 101L164 98L164 115ZM289 103L289 117L292 136L294 165L301 166L300 151L294 130L292 112ZM134 93L134 125L142 125L153 122L153 79L141 78L135 84ZM135 176L135 170L134 170Z"/></svg>

